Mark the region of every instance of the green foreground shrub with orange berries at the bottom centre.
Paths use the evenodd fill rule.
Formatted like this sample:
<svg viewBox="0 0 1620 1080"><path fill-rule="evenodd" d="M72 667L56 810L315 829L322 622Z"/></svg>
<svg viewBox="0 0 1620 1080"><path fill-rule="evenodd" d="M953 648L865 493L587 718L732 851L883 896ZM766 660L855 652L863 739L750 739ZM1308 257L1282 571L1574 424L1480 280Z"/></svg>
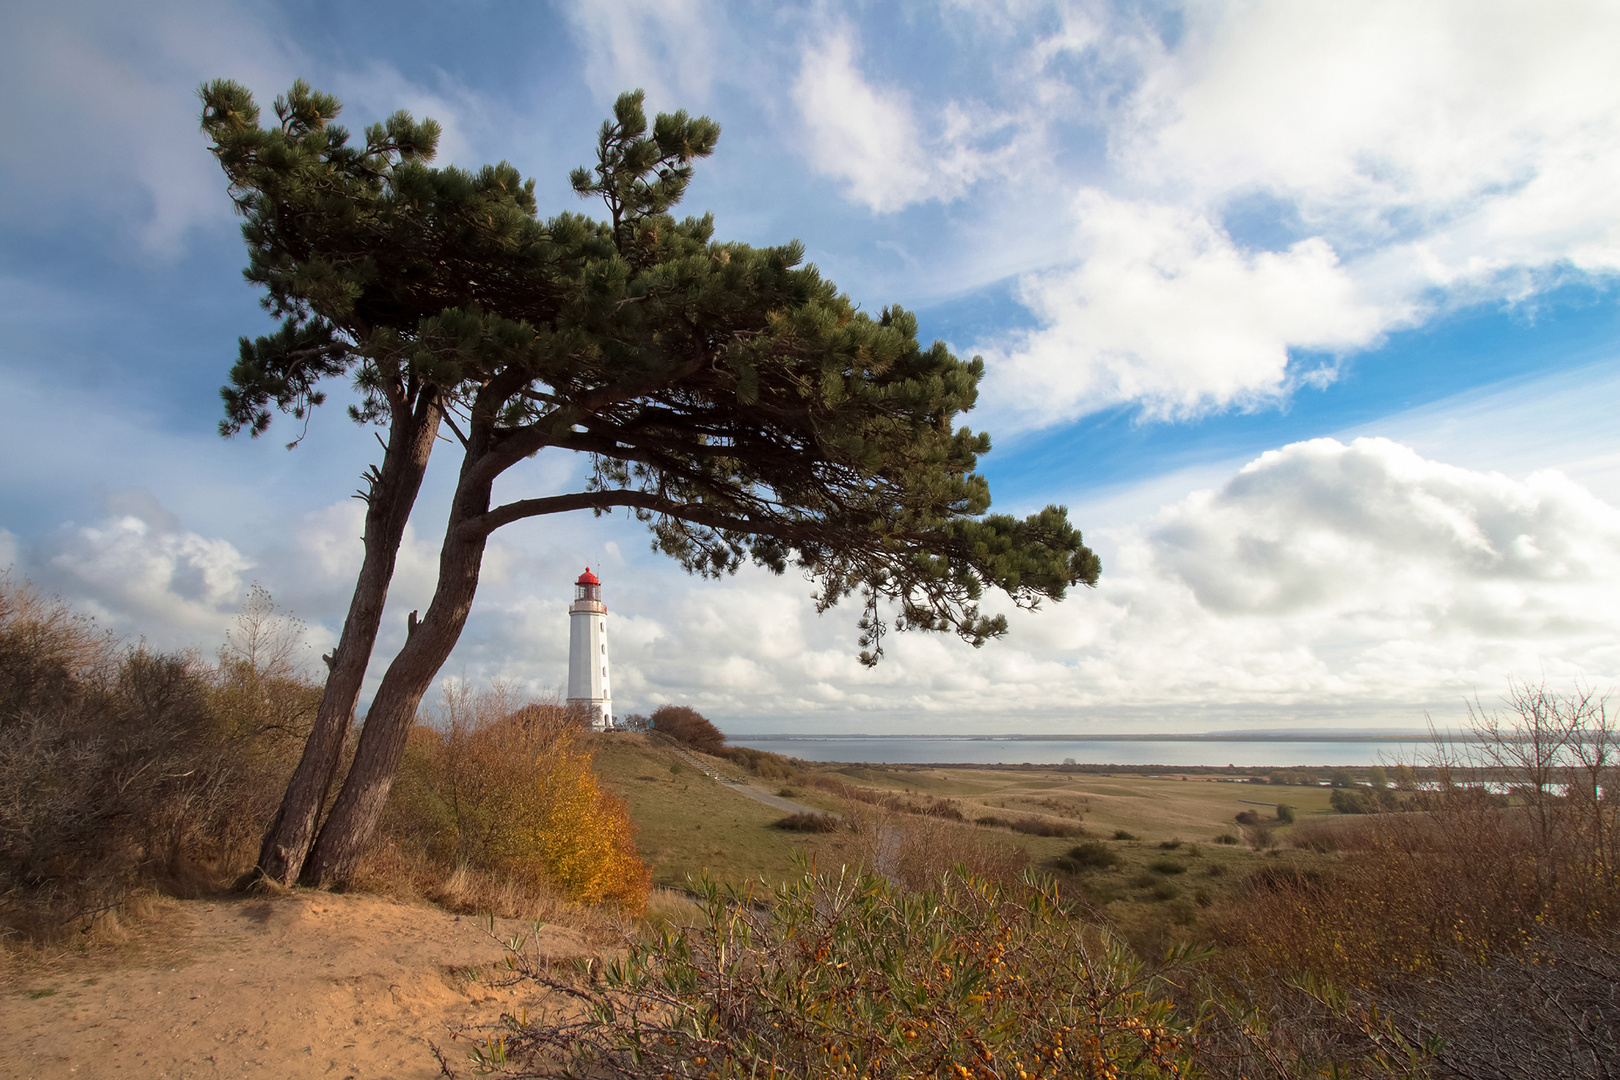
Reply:
<svg viewBox="0 0 1620 1080"><path fill-rule="evenodd" d="M599 983L570 986L582 1010L509 1014L499 1054L562 1054L590 1075L781 1080L1145 1080L1191 1067L1170 986L1050 886L949 874L904 894L875 876L805 876L771 900L705 882L697 926L632 944ZM538 954L514 967L556 984ZM497 1052L494 1033L480 1041Z"/></svg>

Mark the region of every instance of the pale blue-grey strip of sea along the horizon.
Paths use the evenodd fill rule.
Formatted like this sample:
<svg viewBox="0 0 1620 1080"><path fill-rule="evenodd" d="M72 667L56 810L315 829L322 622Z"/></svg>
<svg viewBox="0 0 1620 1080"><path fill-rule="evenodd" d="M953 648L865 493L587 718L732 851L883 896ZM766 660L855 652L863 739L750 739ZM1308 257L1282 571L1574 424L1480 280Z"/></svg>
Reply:
<svg viewBox="0 0 1620 1080"><path fill-rule="evenodd" d="M1147 738L1038 738L1006 735L732 735L734 746L768 750L804 761L868 764L1129 764L1283 769L1422 763L1432 738L1377 735L1338 738L1221 738L1153 735Z"/></svg>

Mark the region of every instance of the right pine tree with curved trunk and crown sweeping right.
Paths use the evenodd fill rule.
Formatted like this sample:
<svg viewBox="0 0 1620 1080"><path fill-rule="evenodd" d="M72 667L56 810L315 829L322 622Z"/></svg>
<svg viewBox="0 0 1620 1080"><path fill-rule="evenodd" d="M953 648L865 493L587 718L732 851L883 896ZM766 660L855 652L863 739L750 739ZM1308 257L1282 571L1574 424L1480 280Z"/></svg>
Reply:
<svg viewBox="0 0 1620 1080"><path fill-rule="evenodd" d="M249 107L243 97L237 112ZM609 220L562 214L539 223L530 198L520 207L525 222L514 219L509 233L522 243L492 251L484 266L458 267L465 282L446 272L434 296L467 296L478 280L509 287L420 314L410 327L402 351L433 371L462 465L433 602L420 622L413 614L384 675L355 763L303 863L305 882L340 881L363 853L421 696L467 623L488 538L510 521L622 507L693 573L731 573L745 559L778 573L794 563L816 581L820 610L862 594L867 664L881 654L891 604L897 630L951 630L982 644L1006 630L1003 617L978 610L987 586L1035 607L1097 581L1097 557L1063 508L1024 520L988 513L988 484L974 473L988 439L953 427L974 405L982 361L962 363L941 343L922 348L915 319L897 308L876 319L859 313L813 267L799 266L797 243L718 243L711 217L671 217L692 162L713 151L718 134L708 118L685 113L659 115L648 131L642 94L620 96L596 167L572 176L582 196L603 199ZM467 176L428 170L418 157L399 154L384 196L407 188L402 176L413 189L433 186L428 176ZM520 183L507 165L486 175L510 176L504 189ZM348 220L360 217L356 209ZM319 244L272 256L288 280L309 283L334 264ZM376 266L356 282L384 288ZM400 269L410 262L397 261ZM390 340L407 332L395 329ZM376 351L352 353L368 389L381 369ZM313 403L309 393L293 400L295 416ZM266 419L269 400L259 405ZM494 505L496 479L551 449L590 455L582 491Z"/></svg>

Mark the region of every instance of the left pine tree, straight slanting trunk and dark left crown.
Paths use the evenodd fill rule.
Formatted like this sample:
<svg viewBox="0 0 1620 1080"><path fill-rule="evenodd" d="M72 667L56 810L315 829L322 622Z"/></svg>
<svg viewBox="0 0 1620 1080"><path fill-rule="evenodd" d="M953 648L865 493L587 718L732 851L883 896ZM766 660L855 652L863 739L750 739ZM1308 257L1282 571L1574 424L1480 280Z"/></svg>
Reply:
<svg viewBox="0 0 1620 1080"><path fill-rule="evenodd" d="M314 842L361 680L376 646L394 565L428 457L467 350L457 332L480 304L522 301L544 317L536 269L556 246L535 222L533 186L505 167L478 175L428 168L433 120L399 112L356 147L334 125L339 102L298 81L275 99L277 123L241 86L201 87L202 131L230 181L248 244L245 277L266 290L280 330L241 338L222 390L220 434L271 424L271 408L308 421L326 379L348 374L356 423L387 429L364 476L364 559L303 758L264 834L258 873L292 884ZM520 283L518 283L520 282Z"/></svg>

